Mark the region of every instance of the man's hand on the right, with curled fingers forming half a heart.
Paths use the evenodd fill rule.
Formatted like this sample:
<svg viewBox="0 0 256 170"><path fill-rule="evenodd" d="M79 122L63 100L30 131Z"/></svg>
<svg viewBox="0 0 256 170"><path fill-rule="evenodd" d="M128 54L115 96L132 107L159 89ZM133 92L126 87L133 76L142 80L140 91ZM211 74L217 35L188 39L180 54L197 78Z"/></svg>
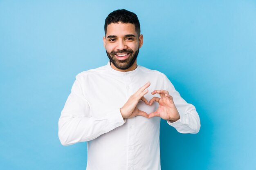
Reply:
<svg viewBox="0 0 256 170"><path fill-rule="evenodd" d="M158 102L159 106L155 112L148 115L148 118L157 116L172 122L179 120L180 114L178 113L178 110L173 102L173 97L169 95L169 92L164 90L155 90L151 94L155 95L156 93L158 93L161 98L153 97L149 101L149 105L151 106L153 102Z"/></svg>

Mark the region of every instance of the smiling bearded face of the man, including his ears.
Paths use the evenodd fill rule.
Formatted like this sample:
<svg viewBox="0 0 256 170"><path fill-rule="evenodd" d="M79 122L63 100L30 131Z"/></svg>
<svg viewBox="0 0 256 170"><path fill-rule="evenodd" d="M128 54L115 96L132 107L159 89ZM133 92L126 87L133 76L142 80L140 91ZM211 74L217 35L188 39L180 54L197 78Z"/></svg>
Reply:
<svg viewBox="0 0 256 170"><path fill-rule="evenodd" d="M109 24L103 42L112 68L131 71L137 67L136 59L143 44L143 35L137 34L134 24Z"/></svg>

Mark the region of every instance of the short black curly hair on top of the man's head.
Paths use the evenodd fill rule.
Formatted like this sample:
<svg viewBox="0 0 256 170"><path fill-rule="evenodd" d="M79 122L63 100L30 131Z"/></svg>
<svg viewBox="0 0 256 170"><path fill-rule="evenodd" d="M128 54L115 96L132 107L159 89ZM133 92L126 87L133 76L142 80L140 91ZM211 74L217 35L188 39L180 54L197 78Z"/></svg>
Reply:
<svg viewBox="0 0 256 170"><path fill-rule="evenodd" d="M118 9L108 14L104 25L105 35L107 33L108 25L118 22L134 24L135 31L138 33L138 35L140 35L140 24L137 15L133 12L127 11L126 9Z"/></svg>

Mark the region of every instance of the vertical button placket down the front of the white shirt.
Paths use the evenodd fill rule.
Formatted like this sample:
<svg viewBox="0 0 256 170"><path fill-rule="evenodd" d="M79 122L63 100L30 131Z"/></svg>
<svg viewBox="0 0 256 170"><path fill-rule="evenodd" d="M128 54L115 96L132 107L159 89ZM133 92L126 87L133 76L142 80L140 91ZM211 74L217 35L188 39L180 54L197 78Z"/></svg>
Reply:
<svg viewBox="0 0 256 170"><path fill-rule="evenodd" d="M132 95L131 90L131 75L130 73L124 73L124 79L126 83L126 94L129 98ZM129 119L128 123L128 163L127 170L134 170L134 157L135 157L135 119Z"/></svg>

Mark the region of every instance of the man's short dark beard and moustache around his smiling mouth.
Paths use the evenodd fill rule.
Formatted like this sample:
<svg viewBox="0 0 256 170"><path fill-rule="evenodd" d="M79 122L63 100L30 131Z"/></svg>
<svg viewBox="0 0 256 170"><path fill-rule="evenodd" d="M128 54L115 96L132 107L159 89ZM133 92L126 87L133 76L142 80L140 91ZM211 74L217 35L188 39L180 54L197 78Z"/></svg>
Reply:
<svg viewBox="0 0 256 170"><path fill-rule="evenodd" d="M110 62L113 63L116 68L120 70L126 70L130 68L130 66L132 66L132 64L137 59L137 56L139 54L139 48L137 51L124 49L124 50L111 51L110 53L108 53L108 51L106 50L106 53L108 55ZM115 57L115 54L117 53L130 53L130 56L126 58L126 60L118 60L117 57Z"/></svg>

